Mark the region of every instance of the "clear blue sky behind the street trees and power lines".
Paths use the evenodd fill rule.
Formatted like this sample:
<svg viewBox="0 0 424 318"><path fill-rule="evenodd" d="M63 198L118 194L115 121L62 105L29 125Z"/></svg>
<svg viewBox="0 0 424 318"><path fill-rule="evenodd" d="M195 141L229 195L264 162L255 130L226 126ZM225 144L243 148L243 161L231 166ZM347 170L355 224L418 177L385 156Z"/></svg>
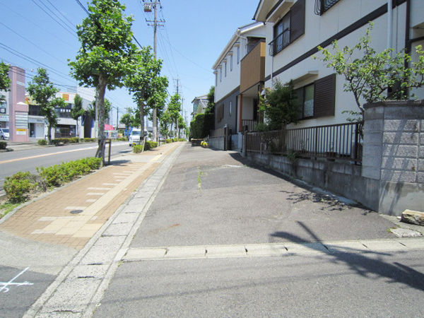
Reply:
<svg viewBox="0 0 424 318"><path fill-rule="evenodd" d="M145 0L147 2L147 0ZM79 1L88 8L87 0ZM153 47L153 13L143 11L143 0L120 0L126 16L133 16L134 37L143 47ZM172 95L182 95L184 118L191 119L192 100L208 93L214 84L212 65L237 28L252 23L259 0L160 0L157 57L163 60ZM61 91L77 82L68 59L81 47L76 25L87 17L78 0L0 0L0 61L25 69L27 83L39 67ZM178 80L178 81L177 81ZM83 96L84 97L84 96ZM112 124L127 107L135 108L125 88L107 91L112 102Z"/></svg>

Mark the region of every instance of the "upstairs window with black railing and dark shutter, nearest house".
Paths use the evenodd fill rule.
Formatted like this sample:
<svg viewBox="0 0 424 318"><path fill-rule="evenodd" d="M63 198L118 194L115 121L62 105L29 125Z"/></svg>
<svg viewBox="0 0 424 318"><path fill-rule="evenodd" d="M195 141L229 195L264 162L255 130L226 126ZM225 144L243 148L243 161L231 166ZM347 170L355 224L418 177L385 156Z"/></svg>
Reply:
<svg viewBox="0 0 424 318"><path fill-rule="evenodd" d="M269 43L271 56L281 52L285 47L305 33L305 0L298 0L290 11L274 25L274 39Z"/></svg>

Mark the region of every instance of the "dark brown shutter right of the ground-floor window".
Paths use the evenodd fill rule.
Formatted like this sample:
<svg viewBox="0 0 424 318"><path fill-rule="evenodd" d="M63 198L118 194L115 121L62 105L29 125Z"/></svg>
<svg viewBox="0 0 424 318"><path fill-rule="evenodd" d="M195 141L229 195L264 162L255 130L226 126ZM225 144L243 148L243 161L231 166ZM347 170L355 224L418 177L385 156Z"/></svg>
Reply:
<svg viewBox="0 0 424 318"><path fill-rule="evenodd" d="M336 105L336 74L314 83L314 117L334 116Z"/></svg>

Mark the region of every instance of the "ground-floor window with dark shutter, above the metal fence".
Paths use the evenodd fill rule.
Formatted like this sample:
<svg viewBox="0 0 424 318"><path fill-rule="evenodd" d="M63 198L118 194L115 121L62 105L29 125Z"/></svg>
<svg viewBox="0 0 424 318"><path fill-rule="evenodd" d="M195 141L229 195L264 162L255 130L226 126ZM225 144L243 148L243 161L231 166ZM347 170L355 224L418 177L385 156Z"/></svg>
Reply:
<svg viewBox="0 0 424 318"><path fill-rule="evenodd" d="M336 74L319 78L295 92L298 96L299 119L334 116Z"/></svg>

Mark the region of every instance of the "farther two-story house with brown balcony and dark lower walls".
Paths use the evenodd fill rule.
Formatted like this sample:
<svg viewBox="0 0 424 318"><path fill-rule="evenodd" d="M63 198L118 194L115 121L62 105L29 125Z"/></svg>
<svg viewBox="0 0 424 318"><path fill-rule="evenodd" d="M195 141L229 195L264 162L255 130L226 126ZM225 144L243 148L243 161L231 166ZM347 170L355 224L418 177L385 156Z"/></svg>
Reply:
<svg viewBox="0 0 424 318"><path fill-rule="evenodd" d="M257 120L258 92L264 85L265 26L237 28L213 64L215 129L228 126L233 150L242 146L242 126Z"/></svg>

